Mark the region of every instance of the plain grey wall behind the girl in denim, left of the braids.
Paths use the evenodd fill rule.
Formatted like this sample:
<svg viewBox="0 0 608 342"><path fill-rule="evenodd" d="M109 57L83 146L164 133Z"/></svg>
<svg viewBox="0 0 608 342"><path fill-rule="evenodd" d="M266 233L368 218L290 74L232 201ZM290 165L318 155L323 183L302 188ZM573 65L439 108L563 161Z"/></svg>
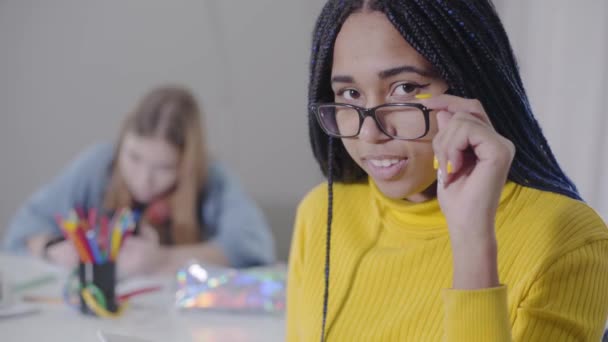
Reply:
<svg viewBox="0 0 608 342"><path fill-rule="evenodd" d="M293 210L321 181L308 145L320 0L0 1L0 233L83 147L115 138L149 87L181 82L211 149L262 204L286 255Z"/></svg>

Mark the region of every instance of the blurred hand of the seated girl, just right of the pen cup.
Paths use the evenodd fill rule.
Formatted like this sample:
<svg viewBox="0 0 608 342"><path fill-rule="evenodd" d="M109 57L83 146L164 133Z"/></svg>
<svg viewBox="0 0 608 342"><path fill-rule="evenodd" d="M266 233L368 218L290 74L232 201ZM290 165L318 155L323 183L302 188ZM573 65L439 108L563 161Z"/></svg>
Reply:
<svg viewBox="0 0 608 342"><path fill-rule="evenodd" d="M167 260L168 250L160 245L158 233L148 225L142 225L139 236L128 237L118 253L119 277L150 274L161 270Z"/></svg>

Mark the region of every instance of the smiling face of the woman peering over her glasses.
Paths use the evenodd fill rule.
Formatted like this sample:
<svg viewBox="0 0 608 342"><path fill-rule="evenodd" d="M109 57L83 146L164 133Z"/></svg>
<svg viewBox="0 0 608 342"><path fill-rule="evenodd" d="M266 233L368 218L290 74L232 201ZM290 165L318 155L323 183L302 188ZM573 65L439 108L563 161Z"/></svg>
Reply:
<svg viewBox="0 0 608 342"><path fill-rule="evenodd" d="M342 26L334 46L332 89L335 102L372 108L385 103L417 102L416 94L442 94L446 83L380 12L354 13ZM420 116L421 120L423 116ZM342 142L353 160L390 198L420 202L436 180L430 131L418 140L391 139L367 117L359 136ZM432 195L432 194L431 194Z"/></svg>

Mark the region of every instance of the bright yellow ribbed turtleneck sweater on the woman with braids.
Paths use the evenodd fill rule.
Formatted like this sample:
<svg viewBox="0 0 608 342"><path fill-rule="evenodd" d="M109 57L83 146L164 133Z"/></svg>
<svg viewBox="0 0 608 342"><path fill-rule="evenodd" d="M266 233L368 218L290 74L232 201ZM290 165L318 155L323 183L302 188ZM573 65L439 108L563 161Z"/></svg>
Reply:
<svg viewBox="0 0 608 342"><path fill-rule="evenodd" d="M436 200L334 186L328 341L599 341L608 315L608 230L587 205L507 183L496 221L503 287L451 290ZM291 247L287 340L319 341L327 186L300 204Z"/></svg>

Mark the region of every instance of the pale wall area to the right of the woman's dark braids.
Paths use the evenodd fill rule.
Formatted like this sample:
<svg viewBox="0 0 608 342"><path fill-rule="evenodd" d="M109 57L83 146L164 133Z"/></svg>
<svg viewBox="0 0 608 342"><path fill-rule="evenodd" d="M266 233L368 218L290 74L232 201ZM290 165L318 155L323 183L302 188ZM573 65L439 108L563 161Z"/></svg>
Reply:
<svg viewBox="0 0 608 342"><path fill-rule="evenodd" d="M608 1L495 2L549 145L608 220Z"/></svg>

